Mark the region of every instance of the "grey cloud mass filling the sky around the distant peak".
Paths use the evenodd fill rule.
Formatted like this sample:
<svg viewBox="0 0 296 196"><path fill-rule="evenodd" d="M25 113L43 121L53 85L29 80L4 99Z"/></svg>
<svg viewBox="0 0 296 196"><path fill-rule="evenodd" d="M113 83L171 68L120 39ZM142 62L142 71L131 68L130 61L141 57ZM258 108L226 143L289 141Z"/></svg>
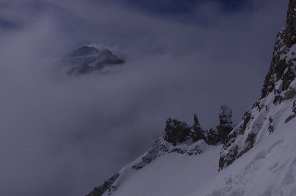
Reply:
<svg viewBox="0 0 296 196"><path fill-rule="evenodd" d="M226 104L238 123L287 9L249 2L160 16L119 2L3 1L1 18L19 28L0 27L0 194L87 194L148 150L169 117L192 124L197 113L209 128ZM53 62L86 44L126 64L57 75Z"/></svg>

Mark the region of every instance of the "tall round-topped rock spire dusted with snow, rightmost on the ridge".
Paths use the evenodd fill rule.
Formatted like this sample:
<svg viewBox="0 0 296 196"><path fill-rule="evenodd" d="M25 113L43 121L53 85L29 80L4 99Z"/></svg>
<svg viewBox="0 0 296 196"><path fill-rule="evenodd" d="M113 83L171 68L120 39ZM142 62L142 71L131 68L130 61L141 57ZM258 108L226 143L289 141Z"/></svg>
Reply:
<svg viewBox="0 0 296 196"><path fill-rule="evenodd" d="M219 113L220 125L219 133L221 139L225 140L226 136L232 131L231 109L226 105L222 105Z"/></svg>

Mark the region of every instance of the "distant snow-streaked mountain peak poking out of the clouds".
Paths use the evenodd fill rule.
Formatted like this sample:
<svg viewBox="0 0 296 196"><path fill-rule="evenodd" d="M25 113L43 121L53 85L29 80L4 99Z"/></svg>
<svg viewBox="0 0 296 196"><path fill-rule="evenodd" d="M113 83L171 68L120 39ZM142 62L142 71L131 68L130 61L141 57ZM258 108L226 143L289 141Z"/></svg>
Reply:
<svg viewBox="0 0 296 196"><path fill-rule="evenodd" d="M82 74L102 69L105 66L121 65L125 61L118 59L108 49L100 52L94 47L82 46L60 58L57 63L66 67L68 74Z"/></svg>

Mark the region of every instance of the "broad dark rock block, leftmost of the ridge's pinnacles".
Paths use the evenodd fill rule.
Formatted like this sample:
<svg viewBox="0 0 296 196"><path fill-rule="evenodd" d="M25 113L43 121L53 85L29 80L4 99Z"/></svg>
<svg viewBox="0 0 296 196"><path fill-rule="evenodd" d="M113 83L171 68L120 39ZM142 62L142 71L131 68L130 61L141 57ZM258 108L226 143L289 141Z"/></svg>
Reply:
<svg viewBox="0 0 296 196"><path fill-rule="evenodd" d="M166 121L163 139L176 146L177 143L185 142L191 133L191 126L185 121L168 118Z"/></svg>

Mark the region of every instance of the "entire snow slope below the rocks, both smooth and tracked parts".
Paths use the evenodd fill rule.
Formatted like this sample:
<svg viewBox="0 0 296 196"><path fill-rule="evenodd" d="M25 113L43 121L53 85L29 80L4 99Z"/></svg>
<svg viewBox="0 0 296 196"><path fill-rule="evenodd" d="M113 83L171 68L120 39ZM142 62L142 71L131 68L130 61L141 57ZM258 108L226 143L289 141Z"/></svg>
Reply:
<svg viewBox="0 0 296 196"><path fill-rule="evenodd" d="M111 195L295 195L296 119L275 130L248 153L217 173L221 144L196 156L168 153L144 168L122 168ZM110 192L105 192L106 196Z"/></svg>

